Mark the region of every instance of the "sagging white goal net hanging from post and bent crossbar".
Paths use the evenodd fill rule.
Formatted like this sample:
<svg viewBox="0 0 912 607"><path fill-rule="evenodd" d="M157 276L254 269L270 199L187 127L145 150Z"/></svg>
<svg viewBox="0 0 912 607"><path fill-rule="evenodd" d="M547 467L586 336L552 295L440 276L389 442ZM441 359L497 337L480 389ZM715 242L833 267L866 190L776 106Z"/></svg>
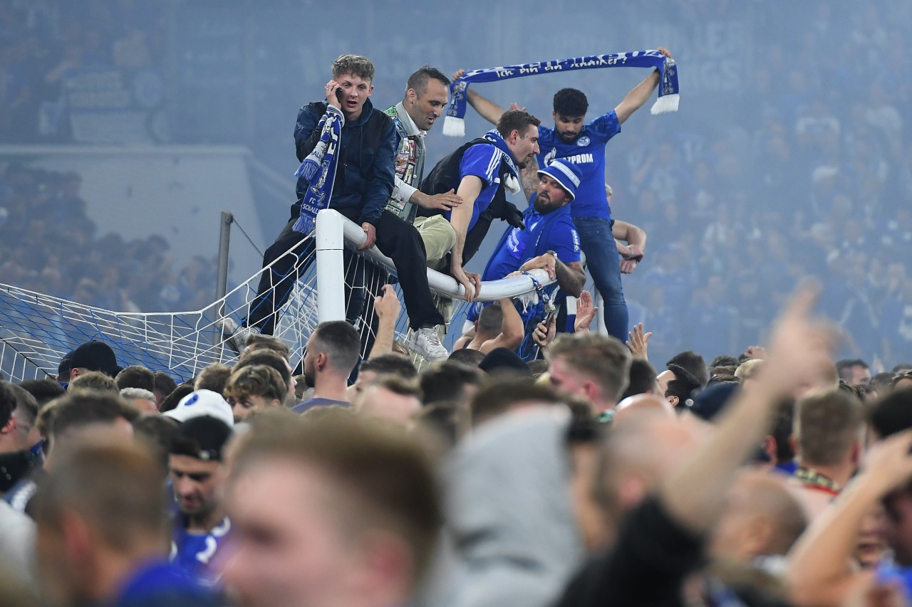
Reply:
<svg viewBox="0 0 912 607"><path fill-rule="evenodd" d="M374 298L390 282L391 265L353 251L358 242L347 242L345 281L347 320L362 335L362 354L373 343ZM304 250L295 269L298 280L279 311L275 336L292 352L292 365L304 355L307 338L317 324L316 252L312 243L295 247ZM286 254L295 254L294 249ZM278 260L272 265L278 263ZM212 363L231 363L236 358L222 334L220 319L231 317L240 323L251 307L262 304L256 299L261 277L268 277L270 290L283 276L273 276L271 266L255 273L233 288L223 299L202 310L181 313L135 314L112 312L78 304L43 293L34 293L10 285L0 285L0 369L14 381L57 375L60 359L78 345L92 339L107 342L114 350L119 365L143 365L169 373L182 381L196 376ZM450 279L451 280L451 279ZM530 283L511 287L513 296L534 293ZM401 294L397 285L397 294ZM438 293L442 293L440 289ZM452 296L453 293L442 293ZM469 304L453 302L450 331L444 345L461 334ZM271 314L270 314L271 315ZM403 309L397 324L397 338L409 343L408 314ZM423 361L415 356L419 365Z"/></svg>

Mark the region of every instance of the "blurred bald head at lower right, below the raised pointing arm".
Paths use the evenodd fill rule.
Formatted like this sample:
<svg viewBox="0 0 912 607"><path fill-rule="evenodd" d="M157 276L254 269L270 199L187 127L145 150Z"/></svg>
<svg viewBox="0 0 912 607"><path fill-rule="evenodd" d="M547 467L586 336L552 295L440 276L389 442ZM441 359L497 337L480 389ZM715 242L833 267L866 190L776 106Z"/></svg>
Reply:
<svg viewBox="0 0 912 607"><path fill-rule="evenodd" d="M712 532L710 554L744 564L785 554L806 525L801 504L784 479L745 470L732 485L725 512Z"/></svg>

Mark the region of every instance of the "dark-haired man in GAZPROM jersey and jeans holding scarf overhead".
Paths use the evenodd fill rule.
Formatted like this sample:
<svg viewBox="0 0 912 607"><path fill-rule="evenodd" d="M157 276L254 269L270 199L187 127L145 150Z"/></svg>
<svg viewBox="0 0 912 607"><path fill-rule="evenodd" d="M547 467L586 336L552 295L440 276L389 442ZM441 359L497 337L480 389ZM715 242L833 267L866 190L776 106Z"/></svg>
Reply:
<svg viewBox="0 0 912 607"><path fill-rule="evenodd" d="M629 318L617 262L617 245L611 233L611 209L605 193L605 145L608 139L620 132L621 125L627 118L646 103L659 83L663 87L659 91L660 96L667 94L668 99L674 98L672 109L677 109L676 68L671 53L661 46L658 47L658 52L648 53L658 61L664 60L665 65L656 67L655 71L631 89L617 108L586 122L586 95L575 88L563 88L554 95L554 128L542 126L538 129L541 148L537 157L539 165L548 166L554 159L566 159L583 172L583 180L570 207L579 232L580 245L586 253L589 272L605 299L604 314L608 333L621 342L627 340ZM625 55L627 54L621 54ZM642 57L641 54L637 55ZM615 63L608 65L606 62L606 67L619 65L620 58L625 58L618 57L614 59ZM465 78L463 75L464 72L457 72L453 79L459 81ZM669 83L670 77L675 77L673 87ZM472 88L463 89L466 100L482 118L496 122L501 117L503 108L483 98ZM663 98L659 97L659 102L662 101ZM653 113L668 111L670 105L669 102L662 104L662 108L653 108Z"/></svg>

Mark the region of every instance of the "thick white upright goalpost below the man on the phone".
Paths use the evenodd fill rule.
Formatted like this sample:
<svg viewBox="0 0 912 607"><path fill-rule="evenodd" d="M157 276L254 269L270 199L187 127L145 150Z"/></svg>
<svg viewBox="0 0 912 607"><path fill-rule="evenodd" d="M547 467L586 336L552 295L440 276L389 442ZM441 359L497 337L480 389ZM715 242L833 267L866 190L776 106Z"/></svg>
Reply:
<svg viewBox="0 0 912 607"><path fill-rule="evenodd" d="M316 213L316 316L320 323L345 320L344 221L332 209Z"/></svg>

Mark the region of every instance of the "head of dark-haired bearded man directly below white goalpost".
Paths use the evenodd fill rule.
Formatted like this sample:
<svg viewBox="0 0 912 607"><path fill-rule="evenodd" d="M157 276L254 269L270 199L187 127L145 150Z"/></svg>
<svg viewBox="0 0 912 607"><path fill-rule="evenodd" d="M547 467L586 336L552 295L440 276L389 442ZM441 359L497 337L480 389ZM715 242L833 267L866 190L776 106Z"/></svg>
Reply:
<svg viewBox="0 0 912 607"><path fill-rule="evenodd" d="M317 324L307 340L304 356L304 380L307 387L314 388L314 396L292 407L292 411L304 413L312 406L348 406L348 376L358 365L360 351L361 340L351 324Z"/></svg>

